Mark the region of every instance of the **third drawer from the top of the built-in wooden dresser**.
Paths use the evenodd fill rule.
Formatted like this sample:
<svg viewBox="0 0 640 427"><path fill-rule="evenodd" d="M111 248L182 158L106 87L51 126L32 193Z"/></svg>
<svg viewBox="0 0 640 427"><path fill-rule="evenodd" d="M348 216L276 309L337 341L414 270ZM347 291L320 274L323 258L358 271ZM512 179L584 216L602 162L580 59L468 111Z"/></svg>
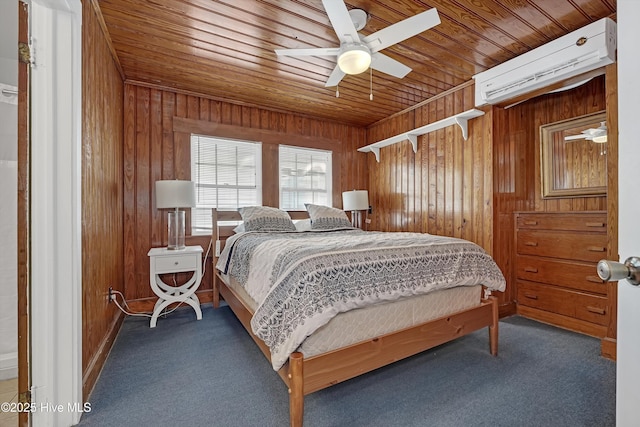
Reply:
<svg viewBox="0 0 640 427"><path fill-rule="evenodd" d="M518 255L516 257L516 277L579 291L607 294L605 281L598 277L595 263Z"/></svg>

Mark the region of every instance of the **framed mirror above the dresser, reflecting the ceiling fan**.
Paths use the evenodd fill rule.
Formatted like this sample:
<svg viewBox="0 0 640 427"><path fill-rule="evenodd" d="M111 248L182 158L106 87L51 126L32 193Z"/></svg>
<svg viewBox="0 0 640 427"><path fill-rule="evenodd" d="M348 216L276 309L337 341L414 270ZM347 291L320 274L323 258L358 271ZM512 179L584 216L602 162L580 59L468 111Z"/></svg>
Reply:
<svg viewBox="0 0 640 427"><path fill-rule="evenodd" d="M542 197L607 194L606 112L540 126Z"/></svg>

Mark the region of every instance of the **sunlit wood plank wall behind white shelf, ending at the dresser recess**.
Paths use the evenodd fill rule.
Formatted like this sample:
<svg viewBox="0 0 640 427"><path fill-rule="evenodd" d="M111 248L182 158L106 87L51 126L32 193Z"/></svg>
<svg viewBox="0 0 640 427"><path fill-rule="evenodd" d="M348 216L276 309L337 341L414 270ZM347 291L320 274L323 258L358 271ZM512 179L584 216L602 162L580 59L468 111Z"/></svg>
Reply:
<svg viewBox="0 0 640 427"><path fill-rule="evenodd" d="M430 100L369 127L368 143L474 108L473 85ZM370 229L415 231L470 240L493 252L492 110L469 121L465 141L459 126L369 154Z"/></svg>

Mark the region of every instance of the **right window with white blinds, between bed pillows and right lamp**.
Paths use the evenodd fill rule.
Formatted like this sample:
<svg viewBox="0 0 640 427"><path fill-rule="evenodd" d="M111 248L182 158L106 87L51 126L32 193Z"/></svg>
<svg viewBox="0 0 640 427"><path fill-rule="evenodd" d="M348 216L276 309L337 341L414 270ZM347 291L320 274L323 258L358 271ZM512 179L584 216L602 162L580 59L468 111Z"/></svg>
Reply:
<svg viewBox="0 0 640 427"><path fill-rule="evenodd" d="M280 145L280 208L331 206L331 151Z"/></svg>

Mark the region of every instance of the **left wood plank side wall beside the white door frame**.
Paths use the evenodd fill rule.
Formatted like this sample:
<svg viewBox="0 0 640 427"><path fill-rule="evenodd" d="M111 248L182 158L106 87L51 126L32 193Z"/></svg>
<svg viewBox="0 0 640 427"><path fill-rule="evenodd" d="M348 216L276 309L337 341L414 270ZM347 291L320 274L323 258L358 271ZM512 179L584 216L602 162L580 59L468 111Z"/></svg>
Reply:
<svg viewBox="0 0 640 427"><path fill-rule="evenodd" d="M90 2L82 16L82 368L85 400L123 316L123 79Z"/></svg>

